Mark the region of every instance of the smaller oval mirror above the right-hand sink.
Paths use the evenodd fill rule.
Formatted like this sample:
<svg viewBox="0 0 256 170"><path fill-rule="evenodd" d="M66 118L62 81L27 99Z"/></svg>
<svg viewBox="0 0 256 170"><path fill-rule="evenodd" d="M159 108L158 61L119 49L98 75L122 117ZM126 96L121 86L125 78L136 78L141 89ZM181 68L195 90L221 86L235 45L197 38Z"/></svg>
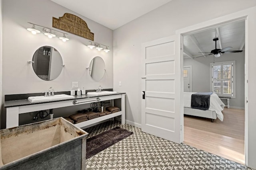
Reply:
<svg viewBox="0 0 256 170"><path fill-rule="evenodd" d="M92 79L94 81L100 81L105 74L105 70L104 60L99 56L94 57L89 66L90 76Z"/></svg>

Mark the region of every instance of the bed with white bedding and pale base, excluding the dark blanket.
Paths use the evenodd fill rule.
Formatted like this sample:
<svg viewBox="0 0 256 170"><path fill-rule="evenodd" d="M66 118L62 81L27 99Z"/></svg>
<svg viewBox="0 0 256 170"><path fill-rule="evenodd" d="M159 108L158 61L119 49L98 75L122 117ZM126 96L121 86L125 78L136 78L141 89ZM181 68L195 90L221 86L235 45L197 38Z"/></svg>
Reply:
<svg viewBox="0 0 256 170"><path fill-rule="evenodd" d="M208 110L194 109L191 108L191 95L196 92L184 92L183 94L183 105L184 105L184 115L192 115L199 117L210 118L213 122L214 119L220 119L223 121L222 111L225 104L220 100L217 94L212 93L210 95L210 105Z"/></svg>

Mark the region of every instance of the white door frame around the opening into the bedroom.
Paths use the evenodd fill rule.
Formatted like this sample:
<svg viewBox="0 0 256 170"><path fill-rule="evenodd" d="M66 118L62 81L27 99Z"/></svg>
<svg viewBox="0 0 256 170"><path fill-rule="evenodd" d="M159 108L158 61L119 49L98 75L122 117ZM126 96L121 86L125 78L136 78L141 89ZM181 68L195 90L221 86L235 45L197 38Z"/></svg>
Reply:
<svg viewBox="0 0 256 170"><path fill-rule="evenodd" d="M252 16L252 13L254 11L254 7L252 8L248 8L246 10L242 10L239 12L235 12L226 16L222 16L219 18L214 18L212 20L208 20L208 21L204 21L202 23L198 23L195 25L191 25L182 29L178 29L176 30L176 34L180 35L180 47L181 47L181 52L180 52L180 64L181 64L181 68L183 69L183 39L182 37L184 35L188 35L189 33L196 33L199 31L203 31L204 29L208 29L210 27L216 27L217 25L223 24L223 23L230 23L230 22L234 22L234 21L239 21L239 20L244 20L245 21L245 134L244 134L244 155L245 155L245 165L248 165L248 37L249 37L249 28L248 28L248 16ZM184 91L184 82L183 82L183 78L181 78L181 91ZM181 95L181 104L180 104L182 113L180 114L180 120L181 120L181 141L184 141L184 110L183 110L183 95ZM252 154L250 154L252 155ZM253 162L250 162L250 164L254 164Z"/></svg>

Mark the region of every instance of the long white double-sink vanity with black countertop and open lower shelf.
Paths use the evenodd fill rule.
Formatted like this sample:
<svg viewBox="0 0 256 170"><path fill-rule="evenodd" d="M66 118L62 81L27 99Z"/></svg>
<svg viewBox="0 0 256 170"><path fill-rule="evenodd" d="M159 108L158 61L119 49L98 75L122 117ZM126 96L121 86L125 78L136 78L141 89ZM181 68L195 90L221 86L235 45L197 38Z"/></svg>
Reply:
<svg viewBox="0 0 256 170"><path fill-rule="evenodd" d="M6 95L4 106L6 107L6 128L19 125L19 115L34 111L55 109L81 104L90 104L93 102L102 102L113 100L112 105L119 107L120 111L74 124L76 127L86 127L112 117L121 115L122 124L125 124L125 93L102 91L87 92L85 95L70 96L70 92L59 92L54 96L40 96L39 94L14 94ZM17 97L18 98L15 98ZM115 101L115 102L114 102Z"/></svg>

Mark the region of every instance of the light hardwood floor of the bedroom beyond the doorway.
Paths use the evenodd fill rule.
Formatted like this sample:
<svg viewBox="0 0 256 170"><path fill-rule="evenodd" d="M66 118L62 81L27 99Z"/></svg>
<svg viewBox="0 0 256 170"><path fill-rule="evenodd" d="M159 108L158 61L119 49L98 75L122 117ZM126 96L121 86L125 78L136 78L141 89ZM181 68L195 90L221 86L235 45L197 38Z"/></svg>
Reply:
<svg viewBox="0 0 256 170"><path fill-rule="evenodd" d="M224 120L184 116L184 143L244 164L244 110L224 108Z"/></svg>

